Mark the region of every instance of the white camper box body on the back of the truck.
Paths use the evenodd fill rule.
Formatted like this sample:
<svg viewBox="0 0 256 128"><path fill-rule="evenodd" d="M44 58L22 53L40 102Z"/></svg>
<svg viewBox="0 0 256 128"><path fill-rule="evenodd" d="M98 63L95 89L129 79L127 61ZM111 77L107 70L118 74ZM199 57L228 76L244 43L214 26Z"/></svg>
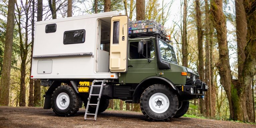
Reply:
<svg viewBox="0 0 256 128"><path fill-rule="evenodd" d="M35 26L31 78L107 79L118 78L109 71L111 17L118 12L40 21ZM56 27L46 33L47 25ZM84 43L64 44L65 32L81 30Z"/></svg>

